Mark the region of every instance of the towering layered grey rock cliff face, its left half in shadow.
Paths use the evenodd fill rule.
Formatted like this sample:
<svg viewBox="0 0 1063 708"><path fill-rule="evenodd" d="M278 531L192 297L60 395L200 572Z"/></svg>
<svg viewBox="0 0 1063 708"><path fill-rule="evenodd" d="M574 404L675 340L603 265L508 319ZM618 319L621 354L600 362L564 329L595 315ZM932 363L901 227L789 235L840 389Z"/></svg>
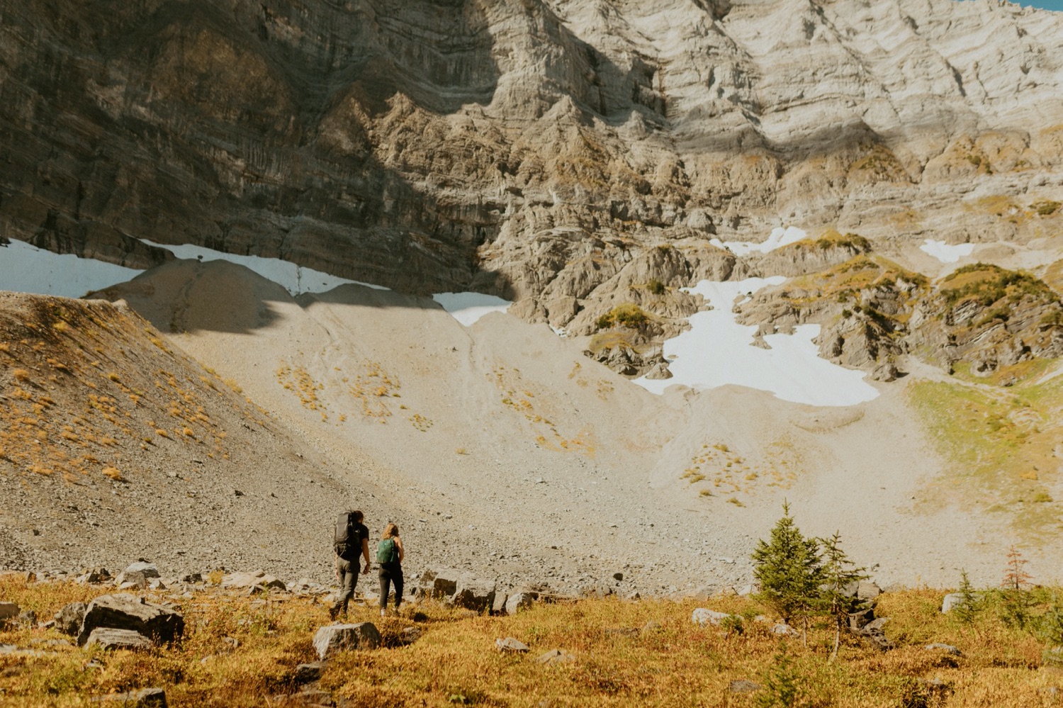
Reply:
<svg viewBox="0 0 1063 708"><path fill-rule="evenodd" d="M0 227L587 330L640 283L756 270L707 239L780 220L1044 236L1014 210L1063 183L1061 49L1061 15L996 0L3 2Z"/></svg>

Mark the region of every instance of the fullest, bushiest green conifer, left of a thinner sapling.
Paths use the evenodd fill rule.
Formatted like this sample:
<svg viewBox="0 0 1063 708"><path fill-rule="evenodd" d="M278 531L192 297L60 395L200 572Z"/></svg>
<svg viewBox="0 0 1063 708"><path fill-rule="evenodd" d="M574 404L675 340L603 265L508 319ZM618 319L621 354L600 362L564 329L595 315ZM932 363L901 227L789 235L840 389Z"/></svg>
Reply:
<svg viewBox="0 0 1063 708"><path fill-rule="evenodd" d="M782 518L772 528L771 540L763 539L753 552L753 575L760 584L760 599L783 622L807 613L815 605L823 583L820 545L805 538L793 518L790 505L782 503Z"/></svg>

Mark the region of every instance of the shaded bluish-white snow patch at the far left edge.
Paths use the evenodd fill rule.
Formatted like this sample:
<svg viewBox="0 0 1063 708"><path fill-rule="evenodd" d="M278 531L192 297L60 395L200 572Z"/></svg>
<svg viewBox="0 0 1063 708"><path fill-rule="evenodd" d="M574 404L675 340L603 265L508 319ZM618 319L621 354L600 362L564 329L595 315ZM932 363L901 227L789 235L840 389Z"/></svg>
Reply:
<svg viewBox="0 0 1063 708"><path fill-rule="evenodd" d="M0 246L0 290L81 298L124 283L141 271L72 253L52 253L14 238Z"/></svg>

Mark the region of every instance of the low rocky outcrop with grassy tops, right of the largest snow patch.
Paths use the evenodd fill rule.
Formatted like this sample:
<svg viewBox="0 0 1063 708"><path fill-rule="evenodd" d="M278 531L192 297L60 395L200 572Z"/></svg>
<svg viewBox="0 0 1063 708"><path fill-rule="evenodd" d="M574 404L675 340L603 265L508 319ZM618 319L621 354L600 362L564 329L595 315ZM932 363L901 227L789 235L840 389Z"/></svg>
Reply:
<svg viewBox="0 0 1063 708"><path fill-rule="evenodd" d="M964 266L938 283L861 255L758 292L740 320L760 334L813 322L821 354L892 381L905 355L951 372L989 375L1063 355L1063 302L1043 281L996 266Z"/></svg>

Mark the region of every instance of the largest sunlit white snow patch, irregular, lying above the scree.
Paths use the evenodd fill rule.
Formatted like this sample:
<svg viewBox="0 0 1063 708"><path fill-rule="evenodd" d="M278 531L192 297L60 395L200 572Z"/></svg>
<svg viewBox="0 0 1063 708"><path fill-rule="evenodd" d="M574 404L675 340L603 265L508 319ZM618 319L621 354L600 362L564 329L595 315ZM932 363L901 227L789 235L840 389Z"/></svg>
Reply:
<svg viewBox="0 0 1063 708"><path fill-rule="evenodd" d="M737 384L813 406L850 406L876 398L878 391L863 380L862 371L820 357L812 341L820 334L819 324L798 325L793 335L765 335L770 350L750 345L757 327L736 322L735 300L784 280L776 275L698 283L690 291L702 293L713 309L693 315L690 330L664 342L672 378L642 377L635 383L654 393L675 384L695 389Z"/></svg>

